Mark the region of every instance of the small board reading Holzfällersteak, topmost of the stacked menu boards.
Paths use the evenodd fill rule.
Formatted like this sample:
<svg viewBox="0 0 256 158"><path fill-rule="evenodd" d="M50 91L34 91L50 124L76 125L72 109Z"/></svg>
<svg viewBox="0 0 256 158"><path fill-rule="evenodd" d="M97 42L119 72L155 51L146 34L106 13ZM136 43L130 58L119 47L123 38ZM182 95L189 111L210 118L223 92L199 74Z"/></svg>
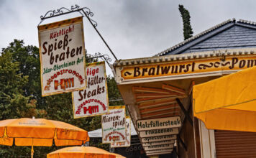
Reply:
<svg viewBox="0 0 256 158"><path fill-rule="evenodd" d="M147 119L147 120L137 120L137 130L146 131L152 129L167 129L180 127L180 117L167 117L161 119Z"/></svg>

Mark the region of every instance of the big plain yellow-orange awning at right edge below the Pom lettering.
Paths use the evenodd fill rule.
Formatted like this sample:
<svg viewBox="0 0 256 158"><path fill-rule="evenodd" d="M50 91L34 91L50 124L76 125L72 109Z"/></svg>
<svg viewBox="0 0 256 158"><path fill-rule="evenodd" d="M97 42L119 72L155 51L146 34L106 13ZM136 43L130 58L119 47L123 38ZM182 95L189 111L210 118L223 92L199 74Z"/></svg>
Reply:
<svg viewBox="0 0 256 158"><path fill-rule="evenodd" d="M207 129L256 132L256 67L195 85L193 114Z"/></svg>

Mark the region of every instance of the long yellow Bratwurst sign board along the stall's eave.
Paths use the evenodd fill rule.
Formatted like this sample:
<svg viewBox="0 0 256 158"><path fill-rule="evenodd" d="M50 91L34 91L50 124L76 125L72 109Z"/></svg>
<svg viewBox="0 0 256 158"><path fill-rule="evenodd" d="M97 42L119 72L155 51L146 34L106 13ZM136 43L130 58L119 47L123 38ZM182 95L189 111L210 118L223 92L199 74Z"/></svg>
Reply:
<svg viewBox="0 0 256 158"><path fill-rule="evenodd" d="M255 49L254 49L255 50ZM193 53L188 53L184 59L184 55L165 55L165 57L144 57L137 58L133 60L123 60L122 63L115 62L116 70L116 82L119 85L132 84L132 83L145 83L145 82L155 82L163 80L177 80L184 78L199 78L206 76L216 76L235 73L239 70L245 68L250 68L252 66L244 66L239 68L240 60L255 60L255 54L249 54L252 50L248 49L231 49L228 52L234 52L233 55L225 55L225 60L221 53L215 53L214 51L201 52L197 57L194 57ZM227 50L224 50L227 54ZM242 55L237 55L237 52L243 52ZM201 57L200 57L201 56ZM237 58L237 61L234 61L234 57ZM195 58L195 59L193 59ZM167 60L168 59L168 60ZM175 59L175 60L172 60ZM192 59L192 60L191 60ZM131 65L132 61L140 61L140 64ZM162 61L163 60L163 61ZM150 61L150 62L144 62ZM159 62L161 61L161 62ZM235 64L233 64L234 62ZM233 63L232 63L233 62ZM126 64L128 63L128 64ZM179 65L183 65L183 73L179 72ZM247 63L245 64L247 65ZM168 73L161 74L161 70L166 70L169 68ZM187 68L188 67L188 68ZM192 68L193 67L193 68ZM229 68L230 67L230 68ZM147 73L144 76L142 75L143 69L146 69ZM184 71L186 70L186 72ZM177 72L176 72L177 71ZM137 75L134 75L137 72ZM138 75L140 74L140 75Z"/></svg>

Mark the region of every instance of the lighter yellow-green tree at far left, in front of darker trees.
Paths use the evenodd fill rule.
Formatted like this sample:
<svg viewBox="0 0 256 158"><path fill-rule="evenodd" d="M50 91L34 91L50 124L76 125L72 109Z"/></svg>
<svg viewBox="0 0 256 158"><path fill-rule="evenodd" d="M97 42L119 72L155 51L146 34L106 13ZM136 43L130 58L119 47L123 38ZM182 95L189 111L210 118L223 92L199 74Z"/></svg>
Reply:
<svg viewBox="0 0 256 158"><path fill-rule="evenodd" d="M18 44L18 43L17 43ZM36 100L27 96L25 89L29 76L24 75L20 67L21 62L15 61L12 50L4 50L0 56L0 120L17 119L37 116ZM0 157L11 157L15 154L27 155L29 147L1 147Z"/></svg>

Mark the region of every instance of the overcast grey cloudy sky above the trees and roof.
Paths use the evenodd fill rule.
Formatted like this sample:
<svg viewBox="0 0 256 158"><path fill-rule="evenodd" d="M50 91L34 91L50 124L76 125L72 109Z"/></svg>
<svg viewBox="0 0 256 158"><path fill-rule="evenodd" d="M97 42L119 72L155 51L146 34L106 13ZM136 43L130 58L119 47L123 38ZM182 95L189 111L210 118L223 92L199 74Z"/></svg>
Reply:
<svg viewBox="0 0 256 158"><path fill-rule="evenodd" d="M182 42L183 24L178 4L183 4L191 14L193 35L227 19L256 22L256 1L253 0L0 0L0 48L7 47L14 39L38 47L40 16L62 6L70 9L74 4L93 11L97 29L118 59L150 57ZM42 24L80 15L46 19ZM88 53L107 54L114 62L86 18L83 18L83 25ZM108 74L111 74L109 70Z"/></svg>

